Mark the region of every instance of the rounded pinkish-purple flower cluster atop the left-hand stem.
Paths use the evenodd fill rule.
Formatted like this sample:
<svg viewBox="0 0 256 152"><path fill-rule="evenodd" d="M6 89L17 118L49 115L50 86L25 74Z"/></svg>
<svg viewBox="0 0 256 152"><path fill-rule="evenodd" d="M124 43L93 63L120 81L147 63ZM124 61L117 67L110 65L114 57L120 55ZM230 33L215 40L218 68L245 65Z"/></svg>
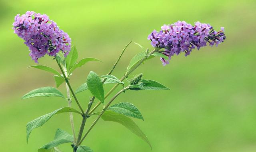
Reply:
<svg viewBox="0 0 256 152"><path fill-rule="evenodd" d="M29 55L36 63L45 54L56 56L62 51L66 56L69 53L71 39L46 14L28 11L22 16L17 14L14 20L14 33L26 41L24 43L29 47Z"/></svg>

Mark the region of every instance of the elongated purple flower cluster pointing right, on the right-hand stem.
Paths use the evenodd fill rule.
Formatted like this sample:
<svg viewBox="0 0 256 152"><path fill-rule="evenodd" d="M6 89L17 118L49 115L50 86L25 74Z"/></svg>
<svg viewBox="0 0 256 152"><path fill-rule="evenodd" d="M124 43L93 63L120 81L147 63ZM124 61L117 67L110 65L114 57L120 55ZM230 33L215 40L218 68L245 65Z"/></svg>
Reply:
<svg viewBox="0 0 256 152"><path fill-rule="evenodd" d="M151 40L151 45L154 48L164 48L164 51L160 51L162 54L168 57L160 58L163 65L169 64L171 57L181 52L185 52L185 56L188 56L193 48L198 50L201 47L214 44L218 46L226 38L224 34L224 28L221 28L219 32L213 30L210 24L203 24L196 22L195 26L186 23L185 21L178 21L174 24L164 25L159 32L154 30L148 35L148 40Z"/></svg>

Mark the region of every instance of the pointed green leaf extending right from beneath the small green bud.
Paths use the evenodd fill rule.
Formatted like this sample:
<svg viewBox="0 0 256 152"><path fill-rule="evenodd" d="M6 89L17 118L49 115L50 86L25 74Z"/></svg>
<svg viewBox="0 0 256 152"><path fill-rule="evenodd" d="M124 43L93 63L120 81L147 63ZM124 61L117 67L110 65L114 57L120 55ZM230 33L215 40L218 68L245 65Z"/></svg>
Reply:
<svg viewBox="0 0 256 152"><path fill-rule="evenodd" d="M142 83L130 85L131 90L170 90L163 84L156 82L154 80L141 80Z"/></svg>

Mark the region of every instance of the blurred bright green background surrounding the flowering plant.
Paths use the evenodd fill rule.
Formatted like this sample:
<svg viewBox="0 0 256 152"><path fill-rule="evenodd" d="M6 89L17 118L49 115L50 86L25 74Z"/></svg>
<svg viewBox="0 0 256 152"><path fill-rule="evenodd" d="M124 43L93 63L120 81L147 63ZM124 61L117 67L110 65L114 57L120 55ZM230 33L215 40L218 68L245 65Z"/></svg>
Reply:
<svg viewBox="0 0 256 152"><path fill-rule="evenodd" d="M103 61L76 70L71 78L75 89L86 81L90 70L106 74L130 40L152 49L147 36L162 24L185 20L210 23L216 30L224 26L227 38L217 48L194 50L188 57L174 56L165 67L154 58L133 73L143 73L144 78L171 90L128 91L115 103L132 102L140 109L145 121L134 121L148 136L153 152L256 151L255 0L1 0L0 7L2 152L36 152L54 138L57 128L71 133L68 114L59 114L35 129L26 144L27 122L67 106L66 101L54 97L21 100L30 90L55 86L51 74L27 68L35 63L24 41L13 33L14 16L27 10L48 14L57 22L77 46L79 59ZM113 74L121 78L130 58L139 51L131 44ZM39 63L57 69L50 57L39 59ZM66 94L64 85L59 89ZM88 96L88 91L78 95L84 107ZM76 131L80 121L75 114ZM95 152L151 151L120 124L103 120L83 144ZM60 149L71 152L69 144Z"/></svg>

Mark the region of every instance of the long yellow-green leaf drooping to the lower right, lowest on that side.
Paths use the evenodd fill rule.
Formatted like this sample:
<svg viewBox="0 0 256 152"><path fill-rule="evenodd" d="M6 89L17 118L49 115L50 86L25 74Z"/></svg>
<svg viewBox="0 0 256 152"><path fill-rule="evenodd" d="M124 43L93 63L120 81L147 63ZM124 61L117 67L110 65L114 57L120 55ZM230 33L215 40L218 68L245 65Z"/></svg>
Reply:
<svg viewBox="0 0 256 152"><path fill-rule="evenodd" d="M118 122L118 123L122 124L128 130L130 130L131 132L133 132L134 134L139 136L142 140L144 140L152 149L147 136L142 132L142 130L140 130L140 128L137 126L137 124L135 124L135 122L132 121L130 118L128 118L122 114L118 114L116 112L110 111L110 110L107 110L106 112L104 112L102 114L101 118L104 121Z"/></svg>

